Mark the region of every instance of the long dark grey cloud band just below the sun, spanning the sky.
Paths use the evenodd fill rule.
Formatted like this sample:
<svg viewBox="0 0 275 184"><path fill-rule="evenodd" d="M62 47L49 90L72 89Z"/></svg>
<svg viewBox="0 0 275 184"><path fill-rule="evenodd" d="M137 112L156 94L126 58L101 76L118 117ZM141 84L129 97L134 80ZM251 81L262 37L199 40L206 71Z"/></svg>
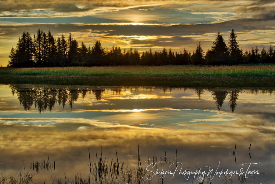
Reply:
<svg viewBox="0 0 275 184"><path fill-rule="evenodd" d="M165 35L173 36L174 40L186 41L186 38L180 36L201 35L206 33L215 33L217 30L221 32L230 31L252 31L252 30L273 30L268 27L275 24L275 19L264 21L256 19L240 19L231 20L216 24L178 24L171 26L158 25L100 25L100 24L17 24L17 25L0 25L0 29L4 30L1 36L20 36L23 31L31 34L37 32L37 29L51 30L53 34L68 32L90 31L97 33L105 33L104 36L117 35Z"/></svg>

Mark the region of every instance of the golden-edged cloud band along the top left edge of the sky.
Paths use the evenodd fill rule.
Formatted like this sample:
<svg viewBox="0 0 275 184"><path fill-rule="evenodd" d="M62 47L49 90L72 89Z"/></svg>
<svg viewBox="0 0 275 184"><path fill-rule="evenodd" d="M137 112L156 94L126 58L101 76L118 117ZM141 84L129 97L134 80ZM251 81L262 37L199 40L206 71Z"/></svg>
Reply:
<svg viewBox="0 0 275 184"><path fill-rule="evenodd" d="M144 6L162 5L162 1L1 1L1 17L71 17ZM73 14L72 14L73 13Z"/></svg>

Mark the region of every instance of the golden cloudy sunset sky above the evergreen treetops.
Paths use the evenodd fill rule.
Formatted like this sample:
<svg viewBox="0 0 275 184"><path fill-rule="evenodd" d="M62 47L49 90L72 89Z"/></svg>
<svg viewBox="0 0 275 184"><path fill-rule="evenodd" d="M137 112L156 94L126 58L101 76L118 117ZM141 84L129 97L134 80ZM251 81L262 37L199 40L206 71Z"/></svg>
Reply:
<svg viewBox="0 0 275 184"><path fill-rule="evenodd" d="M111 49L192 52L211 49L217 31L237 33L243 50L275 45L275 1L0 1L0 64L6 66L22 32L40 28L55 38Z"/></svg>

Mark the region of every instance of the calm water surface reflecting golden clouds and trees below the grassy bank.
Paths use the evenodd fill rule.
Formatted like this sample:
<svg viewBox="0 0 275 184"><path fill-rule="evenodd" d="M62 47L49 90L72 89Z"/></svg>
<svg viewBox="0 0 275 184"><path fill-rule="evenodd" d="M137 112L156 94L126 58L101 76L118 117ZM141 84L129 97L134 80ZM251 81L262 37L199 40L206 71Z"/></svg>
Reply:
<svg viewBox="0 0 275 184"><path fill-rule="evenodd" d="M64 180L64 173L87 177L88 148L93 163L102 146L108 164L117 162L115 150L119 168L123 163L118 176L108 171L103 181L127 183L132 171L130 183L136 183L139 145L143 169L157 163L148 167L150 176L156 169L174 171L176 164L168 167L177 161L182 172L208 171L204 166L216 171L219 162L217 171L239 172L247 170L242 164L259 163L249 171L267 174L247 174L242 182L238 174L232 180L222 174L212 183L274 183L274 110L275 89L270 88L1 85L0 172L16 176L24 164L36 183ZM32 168L32 160L48 158L55 168ZM197 176L186 180L178 174L140 182L199 183ZM91 183L96 177L92 173ZM210 183L207 176L203 180Z"/></svg>

